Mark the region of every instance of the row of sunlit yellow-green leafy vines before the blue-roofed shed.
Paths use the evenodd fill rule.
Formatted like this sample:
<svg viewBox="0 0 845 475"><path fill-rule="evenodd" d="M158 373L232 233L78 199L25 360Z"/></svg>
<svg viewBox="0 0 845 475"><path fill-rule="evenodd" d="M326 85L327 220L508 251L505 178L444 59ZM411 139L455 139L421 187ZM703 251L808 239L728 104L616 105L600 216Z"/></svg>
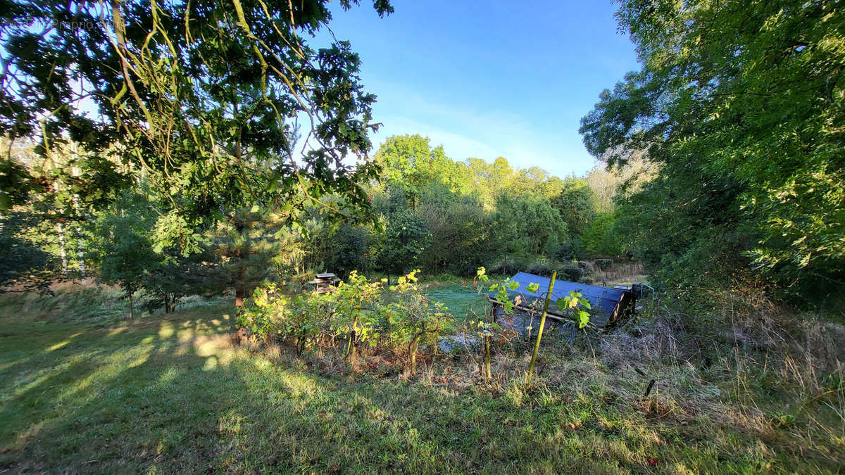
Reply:
<svg viewBox="0 0 845 475"><path fill-rule="evenodd" d="M455 317L444 303L425 295L418 273L412 270L388 285L385 278L370 281L353 270L346 281L322 293L291 293L266 284L254 290L237 315L237 325L250 341L285 343L300 355L329 353L353 366L357 356L386 355L401 361L411 375L417 374L417 358L430 362L439 351L464 352L477 358L479 374L488 380L493 378L493 354L519 355L532 345L532 336L538 340L541 316L548 308L546 289L542 298L514 298L517 282L488 284L481 267L474 287L489 305L482 314ZM538 290L537 284L528 287L529 292ZM557 305L570 318L573 332L589 323L591 306L580 293L570 292ZM521 308L519 315L516 306ZM546 326L548 334L552 324Z"/></svg>

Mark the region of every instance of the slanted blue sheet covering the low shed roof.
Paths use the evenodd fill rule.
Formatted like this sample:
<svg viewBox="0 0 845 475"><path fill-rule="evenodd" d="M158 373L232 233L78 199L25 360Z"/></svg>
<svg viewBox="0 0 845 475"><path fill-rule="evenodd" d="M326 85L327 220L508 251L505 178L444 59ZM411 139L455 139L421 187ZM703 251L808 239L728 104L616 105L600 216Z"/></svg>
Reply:
<svg viewBox="0 0 845 475"><path fill-rule="evenodd" d="M513 292L508 292L510 298L515 298L517 295L523 296L527 303L532 302L537 298L545 298L548 292L548 277L535 276L527 272L519 272L510 280L516 281L520 287ZM537 292L528 292L528 285L537 284L540 288ZM570 281L554 281L554 289L552 291L552 303L549 304L549 312L553 314L560 314L557 307L557 301L564 297L568 297L570 292L581 292L581 296L590 301L592 307L591 314L602 314L604 320L613 314L613 310L619 305L619 301L624 295L623 289L615 289L608 287L590 286L581 284L579 282ZM493 297L493 294L490 294ZM525 304L525 303L523 303Z"/></svg>

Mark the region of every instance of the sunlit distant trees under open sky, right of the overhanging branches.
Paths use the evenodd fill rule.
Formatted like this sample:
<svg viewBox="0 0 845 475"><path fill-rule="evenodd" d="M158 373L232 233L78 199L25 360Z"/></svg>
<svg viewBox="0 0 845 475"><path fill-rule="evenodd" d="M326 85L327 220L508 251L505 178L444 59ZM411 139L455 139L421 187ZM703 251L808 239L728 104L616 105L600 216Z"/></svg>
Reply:
<svg viewBox="0 0 845 475"><path fill-rule="evenodd" d="M381 179L368 189L377 225L327 235L312 255L314 265L341 273L404 274L419 267L471 276L481 265L510 271L509 261L621 254L619 243L581 244L597 213L597 194L585 178L515 169L502 157L454 161L419 135L387 139L375 161Z"/></svg>

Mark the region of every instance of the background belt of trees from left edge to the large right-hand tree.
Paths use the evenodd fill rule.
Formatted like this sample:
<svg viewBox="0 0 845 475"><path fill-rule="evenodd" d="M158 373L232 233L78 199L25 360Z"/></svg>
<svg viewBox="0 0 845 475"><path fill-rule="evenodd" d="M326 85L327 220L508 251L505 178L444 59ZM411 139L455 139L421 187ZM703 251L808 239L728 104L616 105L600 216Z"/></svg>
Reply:
<svg viewBox="0 0 845 475"><path fill-rule="evenodd" d="M32 150L17 153L27 167L42 160ZM419 135L390 137L373 162L379 175L363 185L369 220L354 219L343 195L327 194L320 205L289 211L294 225L279 209L237 208L214 226L181 231L189 245L162 231L172 215L143 174L99 209L74 209L73 219L41 220L39 227L15 225L46 216L45 205L30 200L4 221L4 282L46 285L87 274L120 285L130 298L143 289L152 307L172 311L187 295L233 288L241 299L263 281L301 286L319 271L399 276L419 268L473 276L488 266L563 270L579 280L583 270L573 259L623 253L613 211L602 211L599 199L616 182L599 169L589 177L602 175L603 185L591 186L589 177L516 169L502 157L455 161Z"/></svg>

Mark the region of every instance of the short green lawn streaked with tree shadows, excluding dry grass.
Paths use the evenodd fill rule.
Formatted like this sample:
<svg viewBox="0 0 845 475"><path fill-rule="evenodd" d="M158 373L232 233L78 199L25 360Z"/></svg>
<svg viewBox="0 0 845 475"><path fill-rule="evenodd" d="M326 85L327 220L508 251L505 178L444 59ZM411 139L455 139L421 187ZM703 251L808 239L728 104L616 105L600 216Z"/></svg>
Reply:
<svg viewBox="0 0 845 475"><path fill-rule="evenodd" d="M210 310L16 353L2 373L18 378L0 392L0 471L625 472L668 451L698 457L676 468L722 456L670 447L646 423L631 435L608 422L611 409L564 396L515 404L322 376L232 348Z"/></svg>

